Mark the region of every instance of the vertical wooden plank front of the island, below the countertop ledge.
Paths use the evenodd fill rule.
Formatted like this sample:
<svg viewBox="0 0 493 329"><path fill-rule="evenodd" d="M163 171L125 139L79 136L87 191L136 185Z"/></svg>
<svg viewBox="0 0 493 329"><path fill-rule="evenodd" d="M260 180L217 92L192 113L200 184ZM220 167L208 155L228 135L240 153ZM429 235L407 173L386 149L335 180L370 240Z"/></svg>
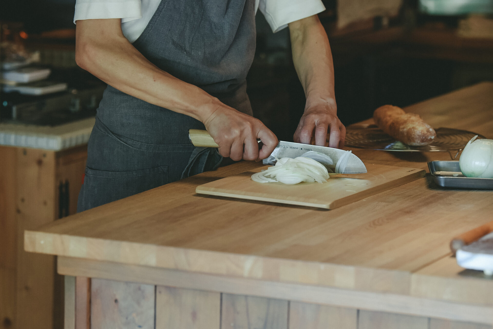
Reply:
<svg viewBox="0 0 493 329"><path fill-rule="evenodd" d="M92 329L493 329L491 325L104 279L92 279L90 308Z"/></svg>

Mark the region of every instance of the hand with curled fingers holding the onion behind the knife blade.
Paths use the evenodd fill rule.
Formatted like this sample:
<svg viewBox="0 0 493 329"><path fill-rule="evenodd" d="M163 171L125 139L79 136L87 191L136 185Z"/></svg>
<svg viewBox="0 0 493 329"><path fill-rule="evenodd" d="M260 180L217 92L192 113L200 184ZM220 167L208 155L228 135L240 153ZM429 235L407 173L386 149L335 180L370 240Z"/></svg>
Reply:
<svg viewBox="0 0 493 329"><path fill-rule="evenodd" d="M337 108L327 103L314 103L307 106L294 133L295 143L342 148L346 138L346 127L337 117ZM327 134L330 128L330 133Z"/></svg>

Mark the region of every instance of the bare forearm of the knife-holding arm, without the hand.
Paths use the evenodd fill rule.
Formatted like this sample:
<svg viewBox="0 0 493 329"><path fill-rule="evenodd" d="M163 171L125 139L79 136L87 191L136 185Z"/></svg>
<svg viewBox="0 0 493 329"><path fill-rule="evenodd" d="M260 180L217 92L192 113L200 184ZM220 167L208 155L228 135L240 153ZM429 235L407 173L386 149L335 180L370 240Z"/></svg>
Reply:
<svg viewBox="0 0 493 329"><path fill-rule="evenodd" d="M84 23L77 22L76 60L86 71L126 94L200 121L219 106L199 87L153 65L122 34L105 34L103 29L97 38L81 35L88 33ZM86 31L80 32L82 28Z"/></svg>

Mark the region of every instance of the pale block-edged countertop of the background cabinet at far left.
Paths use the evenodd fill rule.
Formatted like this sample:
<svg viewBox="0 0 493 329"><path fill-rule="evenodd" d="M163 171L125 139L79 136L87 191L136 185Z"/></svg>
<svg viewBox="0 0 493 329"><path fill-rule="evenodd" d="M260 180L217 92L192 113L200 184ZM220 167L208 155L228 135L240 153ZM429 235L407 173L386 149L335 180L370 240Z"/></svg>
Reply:
<svg viewBox="0 0 493 329"><path fill-rule="evenodd" d="M0 123L0 145L60 151L87 144L94 122L92 117L54 127Z"/></svg>

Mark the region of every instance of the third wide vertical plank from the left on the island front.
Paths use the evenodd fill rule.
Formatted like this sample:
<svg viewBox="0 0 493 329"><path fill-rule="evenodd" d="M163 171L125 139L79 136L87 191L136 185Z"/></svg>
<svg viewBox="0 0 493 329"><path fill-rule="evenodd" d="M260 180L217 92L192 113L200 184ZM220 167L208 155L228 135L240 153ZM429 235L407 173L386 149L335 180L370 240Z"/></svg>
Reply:
<svg viewBox="0 0 493 329"><path fill-rule="evenodd" d="M288 301L222 294L221 328L287 329Z"/></svg>

